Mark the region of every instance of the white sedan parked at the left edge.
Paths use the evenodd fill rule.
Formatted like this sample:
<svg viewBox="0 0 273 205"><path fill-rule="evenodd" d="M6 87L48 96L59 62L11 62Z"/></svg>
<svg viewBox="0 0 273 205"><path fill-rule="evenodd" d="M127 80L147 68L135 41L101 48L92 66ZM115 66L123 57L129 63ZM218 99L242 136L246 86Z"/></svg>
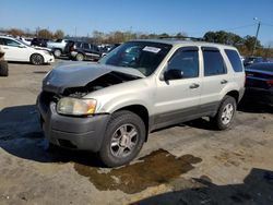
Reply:
<svg viewBox="0 0 273 205"><path fill-rule="evenodd" d="M0 36L0 47L7 61L44 64L55 61L54 55L45 49L33 48L15 38Z"/></svg>

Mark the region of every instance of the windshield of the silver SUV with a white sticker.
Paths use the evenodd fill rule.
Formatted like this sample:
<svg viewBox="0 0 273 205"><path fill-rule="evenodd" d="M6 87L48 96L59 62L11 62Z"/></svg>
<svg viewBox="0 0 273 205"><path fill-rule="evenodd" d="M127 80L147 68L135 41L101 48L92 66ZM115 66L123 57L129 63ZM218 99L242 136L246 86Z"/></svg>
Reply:
<svg viewBox="0 0 273 205"><path fill-rule="evenodd" d="M136 69L149 76L156 70L170 48L171 45L167 44L129 41L114 49L99 63Z"/></svg>

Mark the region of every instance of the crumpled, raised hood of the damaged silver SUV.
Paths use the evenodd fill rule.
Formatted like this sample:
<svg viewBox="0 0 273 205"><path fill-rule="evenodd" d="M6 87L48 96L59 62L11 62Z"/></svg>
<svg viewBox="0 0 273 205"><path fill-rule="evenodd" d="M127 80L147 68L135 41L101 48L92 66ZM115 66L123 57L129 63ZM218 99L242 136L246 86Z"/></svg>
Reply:
<svg viewBox="0 0 273 205"><path fill-rule="evenodd" d="M98 63L69 62L54 68L43 81L43 89L62 94L69 87L84 87L90 82L110 72L120 72L138 77L145 77L135 69L111 67Z"/></svg>

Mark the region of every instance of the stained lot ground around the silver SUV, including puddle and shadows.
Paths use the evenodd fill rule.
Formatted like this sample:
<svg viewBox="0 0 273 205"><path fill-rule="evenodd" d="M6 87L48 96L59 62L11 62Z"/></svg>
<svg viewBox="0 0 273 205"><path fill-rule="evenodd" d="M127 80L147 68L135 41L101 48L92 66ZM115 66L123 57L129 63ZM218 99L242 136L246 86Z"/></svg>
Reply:
<svg viewBox="0 0 273 205"><path fill-rule="evenodd" d="M9 63L0 77L0 204L273 204L273 108L245 99L235 123L205 119L150 135L139 158L48 148L35 110L52 65Z"/></svg>

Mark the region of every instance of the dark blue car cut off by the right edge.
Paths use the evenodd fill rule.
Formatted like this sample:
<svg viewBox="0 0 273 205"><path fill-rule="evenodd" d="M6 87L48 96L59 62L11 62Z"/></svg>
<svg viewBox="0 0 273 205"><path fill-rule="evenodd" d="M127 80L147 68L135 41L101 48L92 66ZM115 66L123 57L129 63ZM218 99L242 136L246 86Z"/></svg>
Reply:
<svg viewBox="0 0 273 205"><path fill-rule="evenodd" d="M246 75L246 97L273 104L273 62L251 64Z"/></svg>

